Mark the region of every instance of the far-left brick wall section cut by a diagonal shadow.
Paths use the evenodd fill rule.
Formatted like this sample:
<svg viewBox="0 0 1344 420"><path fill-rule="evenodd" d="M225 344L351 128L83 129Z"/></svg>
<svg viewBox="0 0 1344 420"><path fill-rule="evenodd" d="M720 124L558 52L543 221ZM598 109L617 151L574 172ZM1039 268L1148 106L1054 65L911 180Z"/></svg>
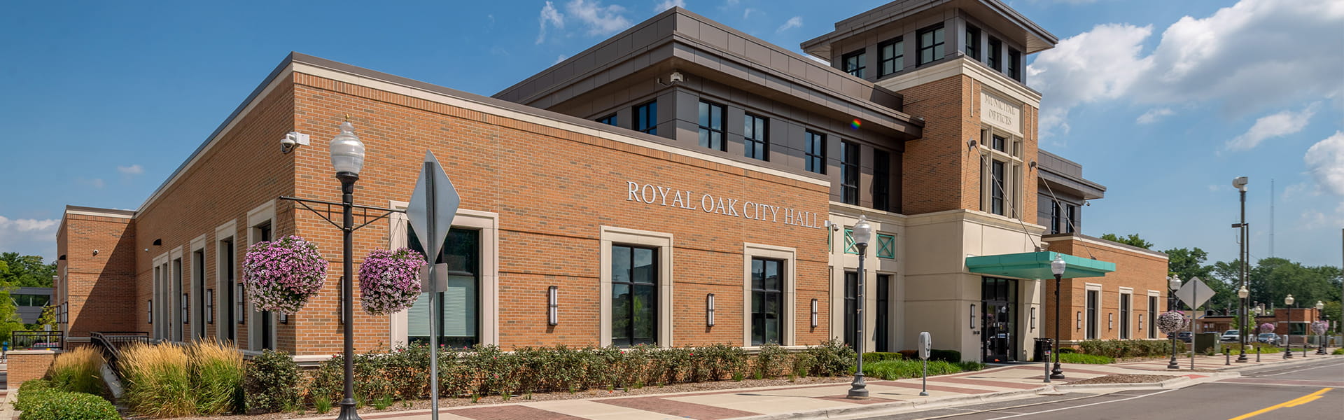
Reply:
<svg viewBox="0 0 1344 420"><path fill-rule="evenodd" d="M55 295L56 304L70 304L66 337L136 328L129 315L136 308L134 232L129 218L66 214L56 246L66 261L56 269L67 273L67 289Z"/></svg>

